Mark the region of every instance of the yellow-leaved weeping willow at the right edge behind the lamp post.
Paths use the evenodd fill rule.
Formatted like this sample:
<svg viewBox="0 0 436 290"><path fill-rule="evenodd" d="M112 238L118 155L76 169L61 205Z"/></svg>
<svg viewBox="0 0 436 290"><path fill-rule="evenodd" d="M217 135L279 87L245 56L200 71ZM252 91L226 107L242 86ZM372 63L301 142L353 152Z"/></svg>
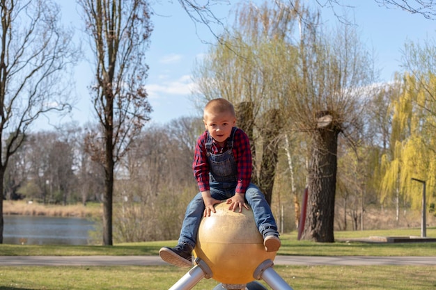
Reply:
<svg viewBox="0 0 436 290"><path fill-rule="evenodd" d="M421 55L423 57L423 55ZM423 67L421 67L423 68ZM405 74L403 90L392 103L391 150L384 154L384 177L380 184L382 203L394 198L396 220L399 220L401 202L421 207L420 184L412 178L425 180L428 192L435 190L435 98L436 77L428 70L412 70ZM418 187L417 187L418 186ZM433 200L434 195L429 195Z"/></svg>

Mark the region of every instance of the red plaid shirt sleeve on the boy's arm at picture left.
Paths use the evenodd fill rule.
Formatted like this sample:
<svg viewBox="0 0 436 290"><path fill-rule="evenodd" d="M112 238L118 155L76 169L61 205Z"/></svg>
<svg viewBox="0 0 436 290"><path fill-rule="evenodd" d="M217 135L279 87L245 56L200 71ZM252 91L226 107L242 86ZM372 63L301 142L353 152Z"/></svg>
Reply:
<svg viewBox="0 0 436 290"><path fill-rule="evenodd" d="M200 191L210 190L209 163L205 150L207 136L208 132L205 131L200 137L198 137L194 150L194 162L192 163L192 170L194 171L194 177Z"/></svg>

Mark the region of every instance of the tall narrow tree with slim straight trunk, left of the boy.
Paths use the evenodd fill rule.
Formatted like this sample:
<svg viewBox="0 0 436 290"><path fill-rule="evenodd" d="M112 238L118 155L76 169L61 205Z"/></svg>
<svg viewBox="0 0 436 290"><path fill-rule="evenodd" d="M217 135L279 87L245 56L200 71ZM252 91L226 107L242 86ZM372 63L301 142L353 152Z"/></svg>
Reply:
<svg viewBox="0 0 436 290"><path fill-rule="evenodd" d="M151 111L144 88L152 26L148 1L78 0L95 58L92 101L100 124L89 150L104 168L103 244L112 245L114 169Z"/></svg>

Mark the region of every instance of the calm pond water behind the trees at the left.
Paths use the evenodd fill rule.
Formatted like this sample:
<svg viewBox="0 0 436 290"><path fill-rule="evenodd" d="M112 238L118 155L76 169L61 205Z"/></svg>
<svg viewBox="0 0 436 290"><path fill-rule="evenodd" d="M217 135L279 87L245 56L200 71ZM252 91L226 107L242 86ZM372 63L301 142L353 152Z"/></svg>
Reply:
<svg viewBox="0 0 436 290"><path fill-rule="evenodd" d="M85 218L3 216L3 243L87 245L94 223Z"/></svg>

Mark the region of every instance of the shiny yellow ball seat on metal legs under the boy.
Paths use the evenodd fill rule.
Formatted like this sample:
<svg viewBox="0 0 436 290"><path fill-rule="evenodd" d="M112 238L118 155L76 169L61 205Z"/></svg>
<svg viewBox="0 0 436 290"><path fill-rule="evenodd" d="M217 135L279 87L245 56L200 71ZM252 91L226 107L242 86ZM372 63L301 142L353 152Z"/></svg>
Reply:
<svg viewBox="0 0 436 290"><path fill-rule="evenodd" d="M216 213L201 220L194 257L212 271L212 279L224 284L247 284L265 260L274 261L277 252L267 252L254 223L253 211L228 210L225 202L215 205Z"/></svg>

